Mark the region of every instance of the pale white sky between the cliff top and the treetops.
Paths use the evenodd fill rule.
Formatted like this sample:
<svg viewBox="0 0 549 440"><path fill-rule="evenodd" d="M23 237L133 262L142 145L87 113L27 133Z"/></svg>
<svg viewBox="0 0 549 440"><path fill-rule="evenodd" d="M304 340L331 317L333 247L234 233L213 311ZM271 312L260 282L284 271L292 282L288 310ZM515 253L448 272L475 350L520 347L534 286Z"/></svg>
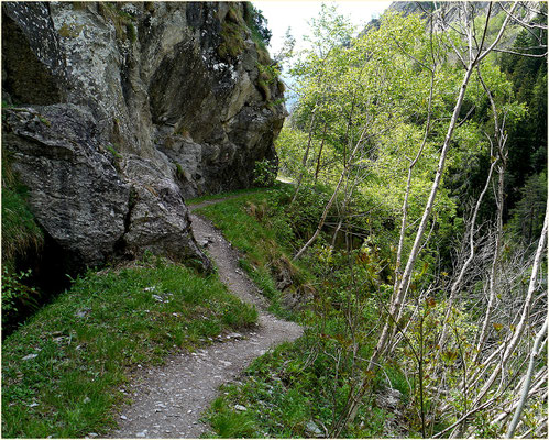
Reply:
<svg viewBox="0 0 549 440"><path fill-rule="evenodd" d="M259 0L252 1L252 3L263 11L263 15L267 19L267 28L273 32L268 52L274 55L281 50L288 26L292 28L296 45L299 45L301 37L308 33L307 21L318 15L322 2L316 0ZM350 16L352 23L360 25L360 30L362 30L363 25L372 18L378 18L392 1L338 0L326 3L338 4L339 12Z"/></svg>

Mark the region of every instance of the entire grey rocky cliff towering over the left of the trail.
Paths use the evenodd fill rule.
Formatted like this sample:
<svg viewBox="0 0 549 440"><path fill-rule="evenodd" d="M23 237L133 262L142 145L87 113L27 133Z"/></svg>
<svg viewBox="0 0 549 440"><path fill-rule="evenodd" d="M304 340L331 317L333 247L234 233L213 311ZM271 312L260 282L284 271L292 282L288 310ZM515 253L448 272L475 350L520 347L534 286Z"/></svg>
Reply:
<svg viewBox="0 0 549 440"><path fill-rule="evenodd" d="M206 261L184 198L276 164L283 87L249 13L2 3L2 150L40 224L83 264L145 249Z"/></svg>

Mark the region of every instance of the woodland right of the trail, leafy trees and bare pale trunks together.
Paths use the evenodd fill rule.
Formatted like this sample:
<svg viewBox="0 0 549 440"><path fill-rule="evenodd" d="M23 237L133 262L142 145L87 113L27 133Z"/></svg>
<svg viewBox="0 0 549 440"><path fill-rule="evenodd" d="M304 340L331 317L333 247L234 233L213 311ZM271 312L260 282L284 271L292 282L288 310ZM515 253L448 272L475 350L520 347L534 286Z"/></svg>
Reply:
<svg viewBox="0 0 549 440"><path fill-rule="evenodd" d="M298 102L277 141L289 205L310 211L294 260L329 286L319 307L338 331L326 344L348 378L329 432L388 364L424 437L513 436L518 407L530 417L520 435L539 433L547 4L418 3L353 32L325 7L309 50L287 40Z"/></svg>

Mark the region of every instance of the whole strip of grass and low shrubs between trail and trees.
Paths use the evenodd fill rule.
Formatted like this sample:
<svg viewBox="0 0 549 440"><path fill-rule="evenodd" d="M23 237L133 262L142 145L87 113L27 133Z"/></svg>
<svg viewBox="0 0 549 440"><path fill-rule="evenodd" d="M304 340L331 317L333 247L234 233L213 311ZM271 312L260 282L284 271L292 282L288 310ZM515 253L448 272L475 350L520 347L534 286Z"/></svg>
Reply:
<svg viewBox="0 0 549 440"><path fill-rule="evenodd" d="M241 267L271 299L274 312L287 318L285 297L301 295L300 307L289 316L306 326L304 338L257 359L243 377L222 387L206 414L211 436L330 437L350 394L366 378L358 417L341 436L381 437L394 416L376 405L376 396L389 387L400 392L403 402L408 398L398 365L371 372L365 363L375 342L370 336L380 324L376 301L388 292L378 248L333 250L328 233L304 258L292 261L330 197L327 188L311 189L292 205L294 187L278 184L198 210L242 253ZM290 280L283 292L281 273Z"/></svg>

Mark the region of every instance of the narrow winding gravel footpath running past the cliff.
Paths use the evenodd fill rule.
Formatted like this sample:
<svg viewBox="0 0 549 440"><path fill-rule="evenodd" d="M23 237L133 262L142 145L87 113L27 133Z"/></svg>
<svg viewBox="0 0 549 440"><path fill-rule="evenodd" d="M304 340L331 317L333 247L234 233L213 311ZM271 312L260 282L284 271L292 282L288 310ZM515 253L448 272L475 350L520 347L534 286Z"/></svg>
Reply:
<svg viewBox="0 0 549 440"><path fill-rule="evenodd" d="M241 195L239 195L241 196ZM229 198L189 206L193 211ZM281 320L266 311L267 302L239 267L239 255L221 232L206 219L190 215L195 239L206 244L220 279L259 312L253 329L218 337L196 353L171 356L166 365L143 372L132 386L133 405L120 411L119 428L110 438L198 438L208 430L199 421L218 395L220 385L235 378L255 358L284 341L303 334L295 322Z"/></svg>

